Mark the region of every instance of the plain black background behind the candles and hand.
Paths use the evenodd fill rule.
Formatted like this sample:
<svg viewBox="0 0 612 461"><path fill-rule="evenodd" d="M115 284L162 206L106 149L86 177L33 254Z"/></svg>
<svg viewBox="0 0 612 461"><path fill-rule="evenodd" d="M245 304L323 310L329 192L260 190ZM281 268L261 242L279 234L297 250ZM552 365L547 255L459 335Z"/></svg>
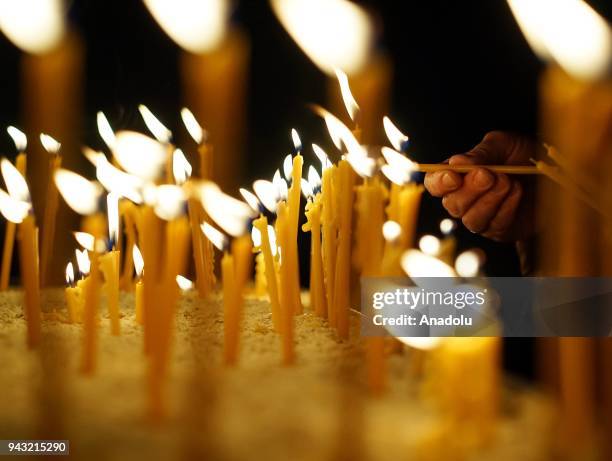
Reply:
<svg viewBox="0 0 612 461"><path fill-rule="evenodd" d="M505 1L362 3L377 17L377 46L394 61L390 115L410 135L416 160L441 161L469 149L493 129L537 135L542 65ZM609 18L607 2L590 3ZM87 47L83 142L102 147L95 125L98 110L115 129L144 129L139 103L177 129L182 107L178 49L145 6L139 0L75 0L69 16ZM237 2L233 21L248 31L252 47L245 106L246 185L271 177L280 166L291 147L292 127L306 145L320 141L321 123L305 104L325 104L326 78L288 37L266 1ZM0 126L19 124L19 56L19 50L0 38ZM14 152L4 131L0 152L9 157ZM419 231L435 232L444 216L439 201L426 197ZM518 275L512 245L491 243L462 228L457 236L461 248L486 250L489 275ZM530 343L511 341L508 346L509 367L528 374Z"/></svg>

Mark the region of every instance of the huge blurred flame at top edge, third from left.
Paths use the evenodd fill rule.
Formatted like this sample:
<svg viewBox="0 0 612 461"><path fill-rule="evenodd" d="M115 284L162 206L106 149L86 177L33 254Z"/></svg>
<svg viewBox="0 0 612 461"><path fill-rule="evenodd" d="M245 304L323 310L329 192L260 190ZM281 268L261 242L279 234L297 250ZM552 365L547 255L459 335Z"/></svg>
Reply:
<svg viewBox="0 0 612 461"><path fill-rule="evenodd" d="M347 0L271 0L283 27L328 75L353 74L368 60L373 26L367 13Z"/></svg>

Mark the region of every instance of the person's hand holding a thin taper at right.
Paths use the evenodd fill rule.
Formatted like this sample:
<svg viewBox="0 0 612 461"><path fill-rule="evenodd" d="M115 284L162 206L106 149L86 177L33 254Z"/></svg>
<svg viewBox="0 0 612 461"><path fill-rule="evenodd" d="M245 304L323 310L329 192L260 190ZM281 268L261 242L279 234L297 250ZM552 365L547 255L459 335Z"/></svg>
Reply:
<svg viewBox="0 0 612 461"><path fill-rule="evenodd" d="M527 138L491 131L469 152L449 158L448 164L525 165L536 150L536 143ZM442 197L444 208L461 218L471 232L503 242L533 233L533 187L525 178L486 168L465 175L443 170L425 175L425 188L434 197Z"/></svg>

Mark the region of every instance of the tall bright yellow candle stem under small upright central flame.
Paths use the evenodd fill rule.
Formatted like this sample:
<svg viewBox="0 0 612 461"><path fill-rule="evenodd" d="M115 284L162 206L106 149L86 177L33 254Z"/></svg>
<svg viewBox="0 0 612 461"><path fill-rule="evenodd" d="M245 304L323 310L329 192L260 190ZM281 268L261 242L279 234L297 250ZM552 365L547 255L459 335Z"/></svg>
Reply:
<svg viewBox="0 0 612 461"><path fill-rule="evenodd" d="M288 267L288 283L290 289L291 301L293 303L293 311L296 314L301 314L303 311L302 301L300 298L300 268L297 248L297 231L298 222L300 219L300 199L302 197L301 181L302 181L302 165L303 158L301 155L293 157L293 169L291 170L291 187L289 188L287 207L287 250L283 257L287 258Z"/></svg>

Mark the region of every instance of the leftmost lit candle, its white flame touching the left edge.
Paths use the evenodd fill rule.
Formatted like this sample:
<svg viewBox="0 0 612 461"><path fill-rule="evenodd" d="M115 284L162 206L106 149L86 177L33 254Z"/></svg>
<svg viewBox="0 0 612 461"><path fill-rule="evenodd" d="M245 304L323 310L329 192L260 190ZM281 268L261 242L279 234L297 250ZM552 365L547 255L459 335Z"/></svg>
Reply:
<svg viewBox="0 0 612 461"><path fill-rule="evenodd" d="M30 191L19 170L11 162L0 162L8 194L1 191L0 211L9 221L19 224L19 264L24 288L27 343L35 347L40 341L40 281L38 273L38 229L31 213Z"/></svg>

